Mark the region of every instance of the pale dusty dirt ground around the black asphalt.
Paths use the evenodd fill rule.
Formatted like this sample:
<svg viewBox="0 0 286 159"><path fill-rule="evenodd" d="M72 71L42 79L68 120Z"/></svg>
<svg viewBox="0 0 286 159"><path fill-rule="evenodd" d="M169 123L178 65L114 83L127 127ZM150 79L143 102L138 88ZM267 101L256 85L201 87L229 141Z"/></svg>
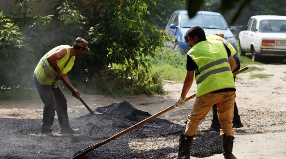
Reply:
<svg viewBox="0 0 286 159"><path fill-rule="evenodd" d="M286 74L285 65L249 65L264 68L264 71L252 71L241 73L236 80L237 86L237 106L241 116L244 127L234 129L234 154L239 159L280 159L286 155ZM269 78L249 79L252 74L270 74ZM108 96L92 96L82 95L82 99L91 107L96 109L110 105L111 103L120 103L128 101L135 108L149 112L151 115L162 111L163 109L174 104L176 99L180 96L182 84L166 84L165 90L169 91L168 95L154 95L154 96L127 96L124 98L111 98ZM187 96L196 93L195 83ZM70 118L85 115L88 110L84 105L72 96L67 96L68 113ZM190 112L194 99L191 99L186 105L179 109L171 110L159 118L166 119L175 124L184 125L186 117ZM40 130L42 118L43 104L40 100L35 101L0 101L0 118L5 120L15 119L31 119L37 120L38 125L33 125L35 132ZM199 126L199 129L208 128L210 126L212 115L209 113L206 120ZM55 127L58 125L55 121ZM73 126L73 123L70 123ZM28 125L26 125L28 126ZM9 127L2 125L1 127ZM54 126L53 126L54 127ZM81 129L81 127L77 127ZM5 130L4 130L5 131ZM12 130L7 130L11 131ZM3 139L3 136L0 136ZM40 132L33 133L33 136L40 136ZM58 134L55 134L58 135ZM0 139L0 140L2 140ZM46 140L46 138L41 138ZM41 142L41 141L33 141ZM74 143L73 143L74 144ZM134 151L142 151L142 149L156 149L164 147L165 145L178 145L178 135L163 136L163 137L149 137L147 139L134 138L129 142L129 147ZM164 145L165 144L165 145ZM9 145L7 145L8 147ZM89 145L82 147L84 149ZM59 151L61 149L59 148ZM25 150L23 153L25 153ZM61 150L62 151L62 150ZM75 149L76 151L76 149ZM0 158L3 157L3 150L0 151ZM57 154L55 152L55 154ZM170 153L169 157L174 156L175 153ZM13 158L13 153L11 154ZM72 156L72 154L71 154ZM150 156L152 157L152 156ZM49 157L47 157L49 158ZM61 158L61 157L59 157ZM195 157L192 157L195 158ZM222 154L215 154L206 159L223 158ZM2 159L2 158L1 158ZM3 158L4 159L4 158ZM25 158L26 159L26 158Z"/></svg>

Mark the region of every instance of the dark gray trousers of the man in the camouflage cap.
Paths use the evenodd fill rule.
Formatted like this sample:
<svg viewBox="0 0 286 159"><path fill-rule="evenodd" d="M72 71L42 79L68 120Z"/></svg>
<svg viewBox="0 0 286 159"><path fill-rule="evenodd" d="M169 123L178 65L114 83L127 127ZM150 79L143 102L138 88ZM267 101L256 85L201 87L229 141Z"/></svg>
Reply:
<svg viewBox="0 0 286 159"><path fill-rule="evenodd" d="M42 85L38 82L35 74L33 75L34 84L44 103L43 109L43 125L41 132L50 130L54 123L55 111L57 111L58 122L61 129L69 127L69 119L67 116L67 99L59 87L54 88L52 85Z"/></svg>

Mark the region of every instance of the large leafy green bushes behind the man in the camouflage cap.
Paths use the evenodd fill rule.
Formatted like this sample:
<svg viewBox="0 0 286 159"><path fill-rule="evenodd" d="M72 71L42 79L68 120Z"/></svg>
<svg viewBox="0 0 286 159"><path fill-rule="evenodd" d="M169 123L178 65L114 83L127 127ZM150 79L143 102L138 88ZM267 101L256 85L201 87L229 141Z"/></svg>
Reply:
<svg viewBox="0 0 286 159"><path fill-rule="evenodd" d="M33 0L16 0L17 12L6 15L13 18L13 23L2 25L5 36L1 37L3 40L7 38L0 46L5 53L0 57L0 71L4 77L1 78L1 86L34 89L32 75L40 58L53 47L71 45L76 37L83 37L89 41L91 51L77 58L76 67L69 72L70 81L75 87L86 90L84 93L92 92L91 85L96 84L90 79L95 73L106 69L106 66L120 66L115 68L118 72L111 78L121 81L124 87L138 93L164 92L159 74L150 73L149 62L168 37L166 32L158 31L143 19L149 14L147 5L155 1L50 2L55 6L54 15L27 16L33 11L29 7ZM1 16L2 22L9 20L3 14ZM130 85L130 81L126 80L128 77L138 80ZM100 91L106 94L114 91L108 87L101 88L103 90Z"/></svg>

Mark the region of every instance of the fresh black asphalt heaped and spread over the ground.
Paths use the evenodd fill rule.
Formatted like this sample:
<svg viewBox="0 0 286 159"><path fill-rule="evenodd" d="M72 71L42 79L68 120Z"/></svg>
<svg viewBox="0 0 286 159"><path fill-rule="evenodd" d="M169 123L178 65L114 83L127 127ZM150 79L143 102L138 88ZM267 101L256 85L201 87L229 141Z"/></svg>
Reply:
<svg viewBox="0 0 286 159"><path fill-rule="evenodd" d="M79 128L79 135L41 136L42 119L0 118L0 159L70 159L88 146L102 142L111 136L150 117L148 112L134 108L129 102L112 103L96 109L104 115L86 114L70 118L70 126ZM53 132L59 131L55 119ZM174 147L134 151L128 145L132 139L166 137L183 134L185 125L155 118L142 126L80 156L81 159L170 159L168 154L177 153ZM162 143L163 144L163 143ZM191 156L209 157L222 153L222 139L218 132L201 133L193 141ZM174 158L174 157L172 157Z"/></svg>

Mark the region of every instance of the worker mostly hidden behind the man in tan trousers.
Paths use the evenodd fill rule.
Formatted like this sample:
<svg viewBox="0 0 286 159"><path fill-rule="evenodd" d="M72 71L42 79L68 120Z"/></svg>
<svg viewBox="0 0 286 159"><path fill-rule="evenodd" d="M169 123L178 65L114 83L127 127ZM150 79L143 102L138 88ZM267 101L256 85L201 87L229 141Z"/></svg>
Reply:
<svg viewBox="0 0 286 159"><path fill-rule="evenodd" d="M188 43L188 35L185 35L185 41ZM218 35L214 35L214 34L206 34L206 39L207 40L220 40L223 42L223 44L226 46L226 50L229 52L231 52L231 55L234 57L234 60L236 62L237 67L232 71L232 72L236 72L240 69L240 60L239 57L237 55L237 52L235 50L235 48L231 45L231 43L229 43L227 40L224 39L224 35L223 34L218 34ZM189 43L188 43L189 45ZM234 76L234 81L235 81L235 77ZM216 104L213 105L213 119L212 119L212 123L210 128L208 129L204 129L202 130L202 132L209 132L209 131L216 131L219 132L221 126L219 124L219 119L217 116L217 112L216 112L217 108L216 108ZM233 121L232 124L234 128L240 128L243 127L243 124L240 121L240 115L238 114L238 109L237 109L237 104L234 101L234 116L233 116Z"/></svg>

